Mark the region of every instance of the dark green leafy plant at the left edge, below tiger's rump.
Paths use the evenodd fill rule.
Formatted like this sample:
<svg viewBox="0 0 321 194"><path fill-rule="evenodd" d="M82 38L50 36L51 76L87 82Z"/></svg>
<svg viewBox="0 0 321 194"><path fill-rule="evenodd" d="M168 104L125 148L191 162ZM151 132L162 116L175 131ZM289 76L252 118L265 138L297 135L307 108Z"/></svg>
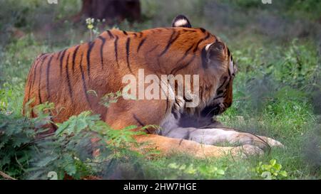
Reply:
<svg viewBox="0 0 321 194"><path fill-rule="evenodd" d="M38 149L37 141L47 129L43 126L51 121L53 103L34 107L38 117L28 119L8 112L0 112L0 170L20 178L30 168L30 162Z"/></svg>

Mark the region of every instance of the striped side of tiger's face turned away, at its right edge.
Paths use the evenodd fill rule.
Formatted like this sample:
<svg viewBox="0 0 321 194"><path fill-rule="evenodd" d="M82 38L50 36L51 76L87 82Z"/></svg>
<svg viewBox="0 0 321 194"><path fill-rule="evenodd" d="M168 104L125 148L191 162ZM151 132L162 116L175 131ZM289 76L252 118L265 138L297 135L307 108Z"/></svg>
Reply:
<svg viewBox="0 0 321 194"><path fill-rule="evenodd" d="M213 117L218 114L225 112L228 107L232 105L233 102L233 80L237 68L233 61L233 57L230 53L228 47L217 41L211 45L208 45L206 49L212 50L210 61L208 63L214 63L215 67L220 67L223 69L223 74L220 77L216 93L211 99L210 104L206 106L202 112L201 116L203 117Z"/></svg>

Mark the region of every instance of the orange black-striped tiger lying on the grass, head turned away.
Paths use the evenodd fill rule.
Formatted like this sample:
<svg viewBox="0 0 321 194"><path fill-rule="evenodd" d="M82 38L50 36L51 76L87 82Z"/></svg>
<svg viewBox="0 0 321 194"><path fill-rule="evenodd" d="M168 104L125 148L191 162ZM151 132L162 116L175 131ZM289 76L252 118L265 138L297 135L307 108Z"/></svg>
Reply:
<svg viewBox="0 0 321 194"><path fill-rule="evenodd" d="M160 91L165 99L120 97L108 108L101 104L101 97L126 87L122 77L138 77L141 69L145 75L158 77L198 75L199 103L186 107L187 94L178 95L173 85L165 83L172 91ZM54 123L90 110L113 129L160 126L148 127L146 135L134 138L165 155L173 151L200 158L226 153L262 154L266 142L282 146L265 136L225 129L214 119L233 102L236 72L228 46L205 28L193 28L186 16L179 15L171 27L141 32L113 28L88 43L39 55L26 80L23 104L31 107L31 117L37 117L34 107L53 102L59 109L52 117ZM51 127L51 132L55 130L56 126ZM222 143L231 146L219 146Z"/></svg>

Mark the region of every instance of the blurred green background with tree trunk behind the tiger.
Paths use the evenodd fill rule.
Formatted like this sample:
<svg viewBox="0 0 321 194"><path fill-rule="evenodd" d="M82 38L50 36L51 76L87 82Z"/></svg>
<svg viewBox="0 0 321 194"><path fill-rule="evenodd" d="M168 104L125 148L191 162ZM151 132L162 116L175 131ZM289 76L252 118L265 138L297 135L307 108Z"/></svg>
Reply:
<svg viewBox="0 0 321 194"><path fill-rule="evenodd" d="M24 83L40 53L91 41L110 28L170 26L184 14L225 41L238 64L233 106L218 119L285 144L286 151L266 159L282 162L289 178L321 178L321 1L271 2L1 0L0 110L21 117ZM251 178L247 165L235 164L223 178Z"/></svg>

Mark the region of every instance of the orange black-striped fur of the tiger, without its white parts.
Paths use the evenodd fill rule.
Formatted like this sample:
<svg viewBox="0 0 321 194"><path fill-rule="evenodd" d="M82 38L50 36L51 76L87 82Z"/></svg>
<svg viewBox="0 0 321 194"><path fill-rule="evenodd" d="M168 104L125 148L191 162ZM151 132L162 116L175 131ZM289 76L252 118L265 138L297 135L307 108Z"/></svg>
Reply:
<svg viewBox="0 0 321 194"><path fill-rule="evenodd" d="M205 49L207 45L209 50ZM203 28L175 26L138 33L113 29L89 43L36 58L26 82L24 105L31 99L34 99L31 107L54 102L56 109L61 109L54 115L54 122L64 122L72 115L91 110L101 114L101 119L114 129L132 124L160 125L173 111L175 101L121 98L108 109L99 103L103 95L124 87L121 77L137 76L138 68L141 68L145 75L199 75L201 103L195 112L220 103L220 113L232 104L230 60L225 43ZM96 95L89 90L96 91ZM215 102L214 97L223 98L223 101ZM36 117L34 112L31 117ZM194 141L158 136L153 132L136 139L151 141L163 153L175 149L196 156L220 156L221 151L232 149L201 146Z"/></svg>

